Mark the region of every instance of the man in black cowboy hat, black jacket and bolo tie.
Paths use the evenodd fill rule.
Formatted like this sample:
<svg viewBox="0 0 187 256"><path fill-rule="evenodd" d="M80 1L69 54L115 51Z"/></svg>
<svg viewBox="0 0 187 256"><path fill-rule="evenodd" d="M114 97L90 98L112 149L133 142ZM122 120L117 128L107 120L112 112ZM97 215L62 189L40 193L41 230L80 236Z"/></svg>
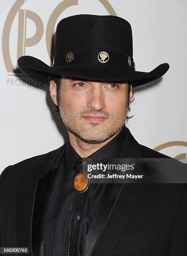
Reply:
<svg viewBox="0 0 187 256"><path fill-rule="evenodd" d="M50 83L68 138L2 172L1 246L29 247L29 255L187 255L186 184L89 184L81 177L82 158L168 158L140 145L125 120L132 87L169 65L135 71L130 24L98 15L60 21L53 67L31 56L18 65Z"/></svg>

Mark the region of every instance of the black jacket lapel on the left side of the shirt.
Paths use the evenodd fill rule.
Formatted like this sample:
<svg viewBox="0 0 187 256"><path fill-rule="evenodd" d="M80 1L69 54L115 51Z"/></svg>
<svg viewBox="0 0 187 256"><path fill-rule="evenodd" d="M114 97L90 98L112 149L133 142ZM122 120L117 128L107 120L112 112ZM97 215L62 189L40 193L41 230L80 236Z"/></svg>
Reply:
<svg viewBox="0 0 187 256"><path fill-rule="evenodd" d="M47 197L65 148L66 143L52 151L29 172L20 172L17 196L17 243L18 246L29 247L29 255L43 255Z"/></svg>

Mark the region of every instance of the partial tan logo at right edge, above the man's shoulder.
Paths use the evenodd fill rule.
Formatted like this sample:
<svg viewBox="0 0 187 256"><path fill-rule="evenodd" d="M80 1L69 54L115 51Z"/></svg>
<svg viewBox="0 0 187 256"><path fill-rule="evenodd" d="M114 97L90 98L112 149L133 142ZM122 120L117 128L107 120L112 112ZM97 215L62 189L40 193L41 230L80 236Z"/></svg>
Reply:
<svg viewBox="0 0 187 256"><path fill-rule="evenodd" d="M173 146L184 146L184 147L186 147L185 149L186 149L186 152L187 152L187 142L186 141L166 142L166 143L161 144L160 146L157 146L156 148L154 148L154 150L155 151L160 151L162 149L173 147ZM177 156L174 156L174 158L178 159L178 160L183 160L184 159L184 162L186 162L185 159L187 159L187 153L178 154Z"/></svg>

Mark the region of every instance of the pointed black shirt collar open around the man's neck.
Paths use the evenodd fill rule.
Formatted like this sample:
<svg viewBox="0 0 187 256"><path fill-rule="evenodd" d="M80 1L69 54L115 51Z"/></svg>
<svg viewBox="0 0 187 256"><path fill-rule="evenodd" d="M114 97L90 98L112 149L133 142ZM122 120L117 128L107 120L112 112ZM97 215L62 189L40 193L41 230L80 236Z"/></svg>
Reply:
<svg viewBox="0 0 187 256"><path fill-rule="evenodd" d="M125 137L127 135L127 130L125 129L125 124L122 126L120 132L113 138L111 141L109 141L107 144L102 146L102 148L95 151L93 154L88 156L88 158L95 158L95 159L103 159L103 158L117 158L120 154L120 150L122 148L123 142L125 140ZM82 159L79 154L75 151L75 149L70 144L70 138L67 136L67 146L66 146L66 173L68 174L70 170L72 169L73 165L75 164L75 161L77 159Z"/></svg>

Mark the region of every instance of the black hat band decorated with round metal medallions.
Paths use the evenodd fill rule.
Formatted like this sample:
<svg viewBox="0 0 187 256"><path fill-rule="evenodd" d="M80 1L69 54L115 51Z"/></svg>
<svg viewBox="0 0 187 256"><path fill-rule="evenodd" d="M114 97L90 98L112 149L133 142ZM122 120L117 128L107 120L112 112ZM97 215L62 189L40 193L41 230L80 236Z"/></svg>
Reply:
<svg viewBox="0 0 187 256"><path fill-rule="evenodd" d="M57 54L53 59L53 67L73 64L97 64L135 69L133 58L129 54L112 51L69 51Z"/></svg>

